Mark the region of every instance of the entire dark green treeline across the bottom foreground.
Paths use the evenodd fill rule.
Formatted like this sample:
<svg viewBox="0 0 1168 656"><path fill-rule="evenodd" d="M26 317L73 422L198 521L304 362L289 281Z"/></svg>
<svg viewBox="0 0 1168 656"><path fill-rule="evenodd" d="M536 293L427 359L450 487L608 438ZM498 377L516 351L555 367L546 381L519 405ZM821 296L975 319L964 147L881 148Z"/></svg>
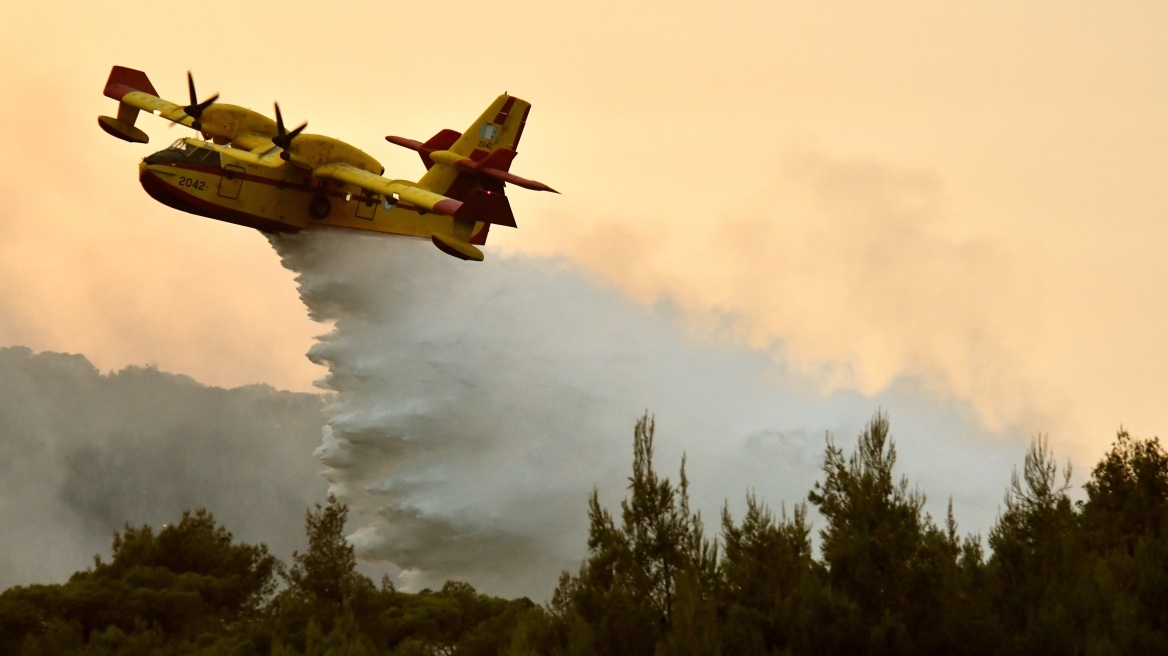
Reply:
<svg viewBox="0 0 1168 656"><path fill-rule="evenodd" d="M752 495L716 536L634 431L619 512L588 504L588 557L550 603L461 582L403 593L356 572L345 505L307 515L286 566L206 511L131 528L109 563L0 595L0 654L1168 654L1168 454L1120 432L1072 503L1036 439L990 529L961 537L895 473L877 414L778 515ZM808 504L822 517L819 556Z"/></svg>

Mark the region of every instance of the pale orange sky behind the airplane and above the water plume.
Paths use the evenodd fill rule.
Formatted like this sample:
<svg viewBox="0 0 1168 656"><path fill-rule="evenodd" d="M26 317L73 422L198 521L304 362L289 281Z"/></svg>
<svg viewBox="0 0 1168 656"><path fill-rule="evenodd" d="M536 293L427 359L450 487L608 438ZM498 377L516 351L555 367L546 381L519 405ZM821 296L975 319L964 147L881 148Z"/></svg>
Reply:
<svg viewBox="0 0 1168 656"><path fill-rule="evenodd" d="M0 344L311 389L258 233L150 200L96 125L112 64L422 173L384 134L534 104L519 231L825 390L917 376L1098 458L1168 426L1168 7L1055 1L0 7ZM453 263L452 266L463 266Z"/></svg>

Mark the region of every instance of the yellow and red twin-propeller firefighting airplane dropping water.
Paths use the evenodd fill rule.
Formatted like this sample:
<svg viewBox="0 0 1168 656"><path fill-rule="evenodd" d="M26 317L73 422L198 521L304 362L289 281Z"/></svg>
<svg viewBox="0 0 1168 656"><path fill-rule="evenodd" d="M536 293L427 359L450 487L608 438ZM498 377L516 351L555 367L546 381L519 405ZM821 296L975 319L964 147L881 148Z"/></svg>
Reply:
<svg viewBox="0 0 1168 656"><path fill-rule="evenodd" d="M150 141L134 127L139 111L202 133L138 165L146 193L185 212L264 232L332 226L409 235L481 261L475 246L491 225L515 228L505 182L555 191L509 172L531 105L506 93L466 132L443 130L425 144L387 137L422 155L427 170L410 182L383 177L377 160L343 141L304 133L307 123L286 130L278 104L273 121L218 103L217 93L200 102L189 72L187 86L190 104L178 105L159 98L145 72L113 67L105 96L118 100L118 117L97 119L105 132L137 144Z"/></svg>

